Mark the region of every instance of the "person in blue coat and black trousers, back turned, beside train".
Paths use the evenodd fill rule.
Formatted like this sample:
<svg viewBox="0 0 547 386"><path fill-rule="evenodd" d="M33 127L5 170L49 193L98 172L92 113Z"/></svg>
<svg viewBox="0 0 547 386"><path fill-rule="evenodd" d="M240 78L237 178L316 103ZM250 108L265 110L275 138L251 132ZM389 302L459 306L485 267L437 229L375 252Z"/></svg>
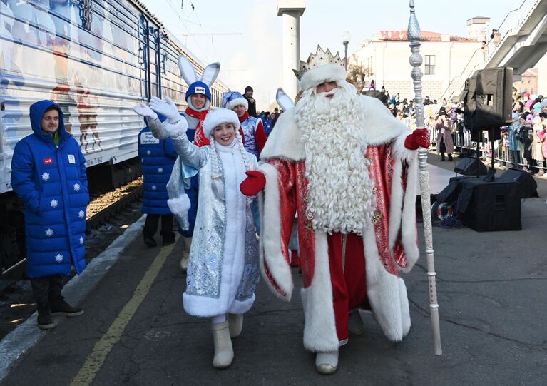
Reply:
<svg viewBox="0 0 547 386"><path fill-rule="evenodd" d="M160 121L165 118L161 117ZM163 245L175 242L173 233L173 213L167 200L167 183L177 159L177 151L171 138L155 138L148 125L138 133L138 156L143 165L144 197L143 213L147 213L143 228L144 243L148 247L158 245L154 235L158 230L161 216L161 231Z"/></svg>

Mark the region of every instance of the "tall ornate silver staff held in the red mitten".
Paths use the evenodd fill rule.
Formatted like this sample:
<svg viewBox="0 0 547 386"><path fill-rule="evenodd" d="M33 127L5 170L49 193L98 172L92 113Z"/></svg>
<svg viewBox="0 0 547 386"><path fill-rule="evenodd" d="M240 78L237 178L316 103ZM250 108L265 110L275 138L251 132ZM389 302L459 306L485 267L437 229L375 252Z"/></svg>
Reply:
<svg viewBox="0 0 547 386"><path fill-rule="evenodd" d="M414 111L416 112L416 128L425 128L424 126L424 104L421 97L421 55L420 39L421 31L418 19L414 13L414 0L410 0L410 19L408 28L408 37L410 41L410 65L412 68L412 81L414 82ZM427 279L429 282L429 310L431 313L431 327L433 329L433 347L435 355L442 355L441 348L441 329L439 326L439 304L437 304L437 289L435 283L435 263L433 257L433 230L431 228L431 198L429 198L429 172L427 171L427 149L419 148L418 151L420 168L420 194L421 194L421 213L424 218L424 234L426 241L427 258Z"/></svg>

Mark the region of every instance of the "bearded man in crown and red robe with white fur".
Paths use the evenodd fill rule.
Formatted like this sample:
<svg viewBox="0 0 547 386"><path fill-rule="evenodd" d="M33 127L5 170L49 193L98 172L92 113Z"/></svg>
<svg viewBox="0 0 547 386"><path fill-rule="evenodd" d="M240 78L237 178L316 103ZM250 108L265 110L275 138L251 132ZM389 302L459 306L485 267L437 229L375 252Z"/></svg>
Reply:
<svg viewBox="0 0 547 386"><path fill-rule="evenodd" d="M266 181L249 176L242 191L264 189L260 267L285 300L294 288L287 243L298 211L304 346L316 353L317 372L332 374L349 331L364 330L356 309L372 309L390 340L409 332L399 270L419 257L417 149L429 146L429 133L411 132L381 101L357 95L338 54L318 46L295 73L302 96L295 106L277 91L285 113L260 155Z"/></svg>

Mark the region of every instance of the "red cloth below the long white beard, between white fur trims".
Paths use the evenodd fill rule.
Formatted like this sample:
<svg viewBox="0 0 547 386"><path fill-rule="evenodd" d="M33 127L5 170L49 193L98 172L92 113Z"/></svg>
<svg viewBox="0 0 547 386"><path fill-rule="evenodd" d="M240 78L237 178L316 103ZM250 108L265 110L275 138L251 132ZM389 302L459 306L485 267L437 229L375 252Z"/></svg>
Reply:
<svg viewBox="0 0 547 386"><path fill-rule="evenodd" d="M347 235L345 269L342 267L342 233L327 237L332 300L338 340L347 342L347 320L355 308L369 308L367 275L364 264L363 239L355 233Z"/></svg>

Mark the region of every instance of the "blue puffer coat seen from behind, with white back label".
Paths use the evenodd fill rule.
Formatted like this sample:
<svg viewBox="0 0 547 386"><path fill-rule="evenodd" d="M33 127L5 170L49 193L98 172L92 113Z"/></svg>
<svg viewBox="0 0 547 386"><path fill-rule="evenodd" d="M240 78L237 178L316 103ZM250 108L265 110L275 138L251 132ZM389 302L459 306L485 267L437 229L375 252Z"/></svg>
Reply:
<svg viewBox="0 0 547 386"><path fill-rule="evenodd" d="M170 215L165 186L177 159L173 141L171 138L155 138L147 126L138 133L138 156L143 164L143 213Z"/></svg>

